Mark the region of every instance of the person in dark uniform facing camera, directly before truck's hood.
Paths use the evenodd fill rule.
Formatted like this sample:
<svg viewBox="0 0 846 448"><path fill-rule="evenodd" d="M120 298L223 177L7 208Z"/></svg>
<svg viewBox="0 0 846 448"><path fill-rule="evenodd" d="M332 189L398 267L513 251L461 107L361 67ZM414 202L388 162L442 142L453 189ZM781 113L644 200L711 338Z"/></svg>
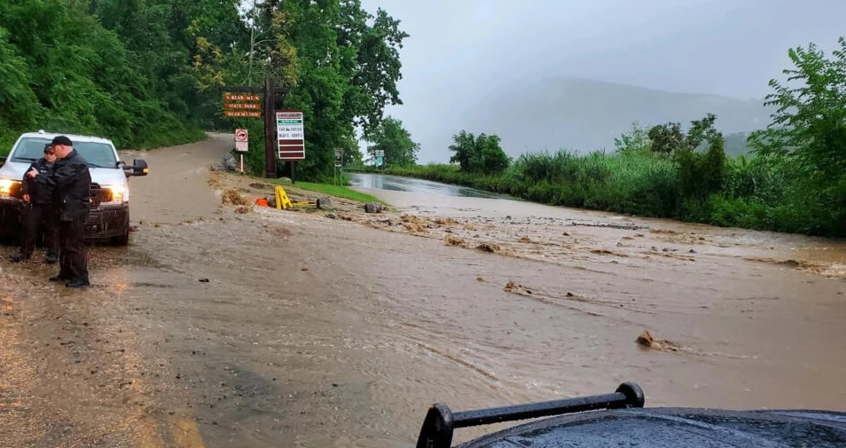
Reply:
<svg viewBox="0 0 846 448"><path fill-rule="evenodd" d="M37 169L40 174L49 175L56 161L52 145L44 145L44 156L34 161L29 169ZM30 177L23 178L23 235L18 253L11 256L13 263L28 260L35 251L38 233L44 231L44 246L47 247L47 263L59 261L59 215L52 204L52 192L48 185L38 185Z"/></svg>

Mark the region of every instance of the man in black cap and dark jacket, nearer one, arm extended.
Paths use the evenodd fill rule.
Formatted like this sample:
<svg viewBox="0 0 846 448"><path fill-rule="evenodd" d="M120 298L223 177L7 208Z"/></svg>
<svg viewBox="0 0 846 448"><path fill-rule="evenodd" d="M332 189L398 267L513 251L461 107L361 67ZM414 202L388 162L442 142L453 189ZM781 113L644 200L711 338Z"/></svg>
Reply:
<svg viewBox="0 0 846 448"><path fill-rule="evenodd" d="M51 281L65 281L67 287L88 287L87 248L83 237L85 221L90 213L91 174L88 163L74 149L66 136L52 141L58 160L50 174L30 169L27 177L38 185L49 186L59 213L59 275Z"/></svg>

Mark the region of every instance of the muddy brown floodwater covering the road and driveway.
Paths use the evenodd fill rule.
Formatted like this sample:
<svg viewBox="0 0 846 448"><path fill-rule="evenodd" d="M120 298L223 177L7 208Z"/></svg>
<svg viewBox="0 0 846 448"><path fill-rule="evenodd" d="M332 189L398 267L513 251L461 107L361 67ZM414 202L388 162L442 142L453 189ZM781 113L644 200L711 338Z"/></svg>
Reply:
<svg viewBox="0 0 846 448"><path fill-rule="evenodd" d="M130 245L91 249L90 290L0 248L0 445L413 446L438 401L622 381L647 406L846 411L842 241L437 185L356 187L374 215L254 208L270 185L208 169L230 148L137 155Z"/></svg>

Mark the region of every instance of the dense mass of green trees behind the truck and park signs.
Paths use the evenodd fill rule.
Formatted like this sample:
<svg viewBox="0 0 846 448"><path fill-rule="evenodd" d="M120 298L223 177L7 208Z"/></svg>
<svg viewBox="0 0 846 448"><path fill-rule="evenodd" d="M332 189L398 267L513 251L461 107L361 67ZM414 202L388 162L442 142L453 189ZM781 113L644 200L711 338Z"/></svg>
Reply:
<svg viewBox="0 0 846 448"><path fill-rule="evenodd" d="M221 89L290 91L302 109L304 178L329 178L337 148L353 160L356 130L401 104L399 49L408 37L359 0L7 0L0 2L0 151L22 131L103 135L144 148L250 132L247 161L264 169L262 121L223 116Z"/></svg>

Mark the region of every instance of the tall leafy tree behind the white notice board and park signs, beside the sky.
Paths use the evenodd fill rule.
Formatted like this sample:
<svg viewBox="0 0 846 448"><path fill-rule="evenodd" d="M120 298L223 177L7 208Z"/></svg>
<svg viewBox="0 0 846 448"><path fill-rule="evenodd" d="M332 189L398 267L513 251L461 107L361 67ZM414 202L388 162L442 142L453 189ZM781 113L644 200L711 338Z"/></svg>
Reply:
<svg viewBox="0 0 846 448"><path fill-rule="evenodd" d="M356 127L369 133L379 125L385 106L401 104L398 49L408 35L387 12L373 16L358 0L266 1L253 10L248 17L258 35L284 35L293 48L279 42L275 47L254 45L252 60L267 64L250 67L280 79L295 63L294 73L289 70L286 76L290 93L284 106L304 114L307 158L297 164L299 176L330 178L334 148L349 147Z"/></svg>

